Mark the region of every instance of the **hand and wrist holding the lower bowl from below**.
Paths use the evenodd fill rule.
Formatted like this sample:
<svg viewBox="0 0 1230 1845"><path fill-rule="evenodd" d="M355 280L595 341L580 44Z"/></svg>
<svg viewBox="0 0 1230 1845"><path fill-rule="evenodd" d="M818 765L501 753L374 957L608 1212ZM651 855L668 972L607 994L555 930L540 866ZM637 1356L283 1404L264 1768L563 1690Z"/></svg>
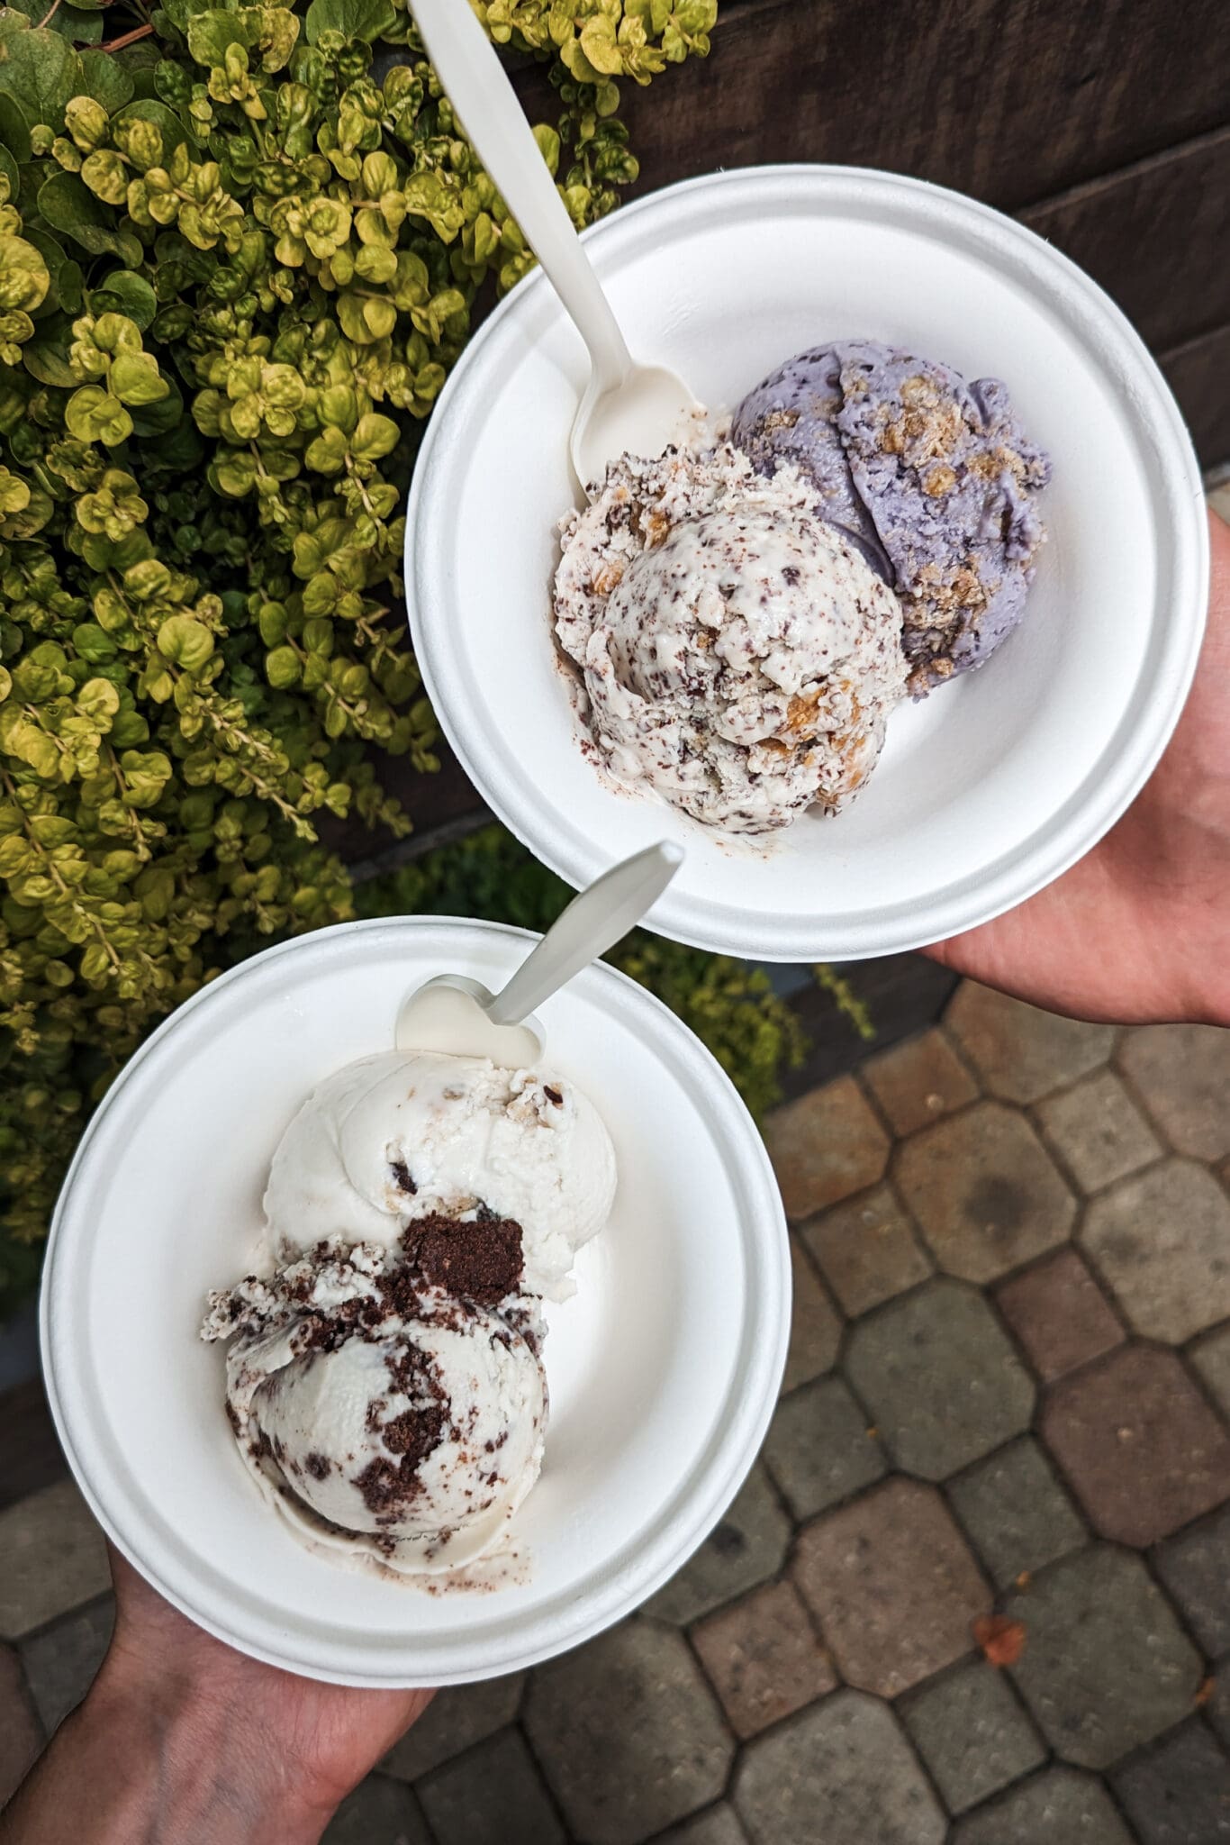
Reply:
<svg viewBox="0 0 1230 1845"><path fill-rule="evenodd" d="M432 1692L319 1684L214 1640L112 1552L94 1686L0 1819L13 1845L301 1845Z"/></svg>

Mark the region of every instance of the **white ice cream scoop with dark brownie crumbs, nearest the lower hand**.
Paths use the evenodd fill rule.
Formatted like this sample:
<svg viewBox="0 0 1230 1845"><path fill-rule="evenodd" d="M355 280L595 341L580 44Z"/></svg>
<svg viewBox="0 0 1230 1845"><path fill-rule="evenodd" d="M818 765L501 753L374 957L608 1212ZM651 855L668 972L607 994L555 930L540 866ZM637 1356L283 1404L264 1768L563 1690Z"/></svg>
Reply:
<svg viewBox="0 0 1230 1845"><path fill-rule="evenodd" d="M234 1336L240 1454L310 1546L433 1574L500 1542L538 1478L546 1426L542 1328L531 1303L507 1299L513 1258L496 1236L487 1292L502 1310L411 1264L387 1269L373 1245L332 1245L212 1297L207 1338Z"/></svg>

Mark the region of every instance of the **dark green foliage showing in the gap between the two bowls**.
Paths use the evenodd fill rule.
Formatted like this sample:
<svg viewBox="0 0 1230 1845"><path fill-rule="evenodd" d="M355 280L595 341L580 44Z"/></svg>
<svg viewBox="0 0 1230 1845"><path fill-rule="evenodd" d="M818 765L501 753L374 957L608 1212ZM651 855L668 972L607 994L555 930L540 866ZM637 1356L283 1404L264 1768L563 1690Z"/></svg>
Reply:
<svg viewBox="0 0 1230 1845"><path fill-rule="evenodd" d="M546 930L574 891L502 827L356 891L360 915L461 915ZM708 1044L760 1118L780 1100L780 1074L802 1063L806 1039L763 969L633 930L607 959L664 1000Z"/></svg>

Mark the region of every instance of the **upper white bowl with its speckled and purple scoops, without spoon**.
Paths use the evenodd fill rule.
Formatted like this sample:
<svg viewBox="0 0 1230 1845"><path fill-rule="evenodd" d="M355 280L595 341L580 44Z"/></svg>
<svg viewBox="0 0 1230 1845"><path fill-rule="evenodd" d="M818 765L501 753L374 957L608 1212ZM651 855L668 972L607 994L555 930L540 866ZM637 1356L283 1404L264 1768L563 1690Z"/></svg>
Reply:
<svg viewBox="0 0 1230 1845"><path fill-rule="evenodd" d="M675 838L653 924L754 959L1025 900L1147 779L1202 635L1199 469L1138 336L1022 225L891 173L714 173L586 247L708 419L577 496L585 362L540 275L450 378L408 601L487 803L575 886Z"/></svg>

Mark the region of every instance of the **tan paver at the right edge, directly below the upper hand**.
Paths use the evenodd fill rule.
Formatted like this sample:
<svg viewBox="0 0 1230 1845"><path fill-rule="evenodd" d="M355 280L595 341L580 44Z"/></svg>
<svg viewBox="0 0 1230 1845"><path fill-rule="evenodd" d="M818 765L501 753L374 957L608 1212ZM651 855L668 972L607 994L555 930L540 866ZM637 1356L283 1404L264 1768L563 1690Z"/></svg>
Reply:
<svg viewBox="0 0 1230 1845"><path fill-rule="evenodd" d="M1177 1153L1230 1153L1230 1031L1145 1026L1127 1033L1119 1057Z"/></svg>

